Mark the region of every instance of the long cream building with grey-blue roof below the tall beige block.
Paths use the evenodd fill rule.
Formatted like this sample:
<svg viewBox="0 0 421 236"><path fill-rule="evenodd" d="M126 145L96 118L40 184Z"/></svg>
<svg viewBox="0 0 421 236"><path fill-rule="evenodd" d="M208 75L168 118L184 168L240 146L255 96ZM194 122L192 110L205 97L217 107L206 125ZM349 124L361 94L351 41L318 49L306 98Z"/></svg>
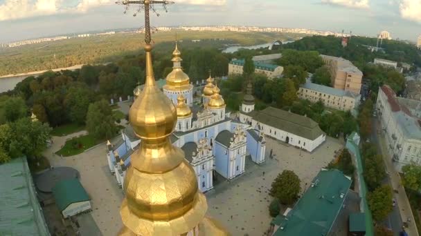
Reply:
<svg viewBox="0 0 421 236"><path fill-rule="evenodd" d="M337 110L356 110L361 101L361 95L355 92L322 86L310 81L300 86L298 97L312 102L322 101L325 106Z"/></svg>

